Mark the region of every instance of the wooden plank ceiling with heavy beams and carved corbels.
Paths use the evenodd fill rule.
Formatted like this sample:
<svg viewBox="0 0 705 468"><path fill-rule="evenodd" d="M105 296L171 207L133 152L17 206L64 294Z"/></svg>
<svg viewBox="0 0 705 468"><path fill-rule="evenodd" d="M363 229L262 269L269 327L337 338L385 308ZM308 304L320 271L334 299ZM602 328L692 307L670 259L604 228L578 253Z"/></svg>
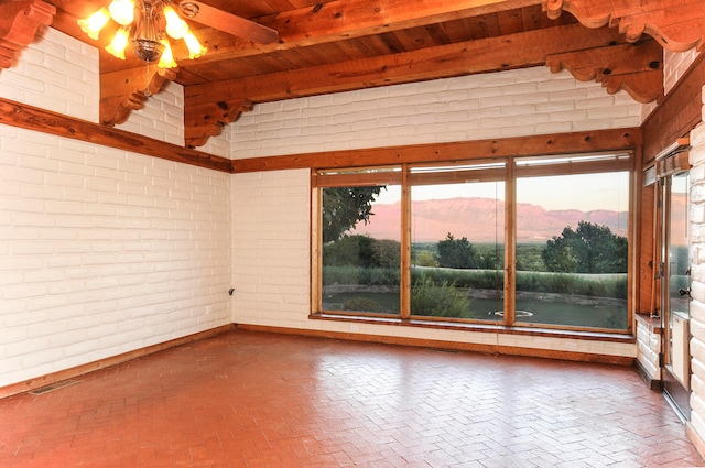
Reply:
<svg viewBox="0 0 705 468"><path fill-rule="evenodd" d="M176 45L178 68L148 75L134 56L102 50L110 34L93 41L78 29L108 0L14 1L55 7L52 28L99 47L105 124L141 108L148 87L183 85L187 146L260 102L533 66L649 102L663 95L663 47L702 48L705 35L705 0L205 0L276 30L279 41L191 22L207 54L189 61Z"/></svg>

